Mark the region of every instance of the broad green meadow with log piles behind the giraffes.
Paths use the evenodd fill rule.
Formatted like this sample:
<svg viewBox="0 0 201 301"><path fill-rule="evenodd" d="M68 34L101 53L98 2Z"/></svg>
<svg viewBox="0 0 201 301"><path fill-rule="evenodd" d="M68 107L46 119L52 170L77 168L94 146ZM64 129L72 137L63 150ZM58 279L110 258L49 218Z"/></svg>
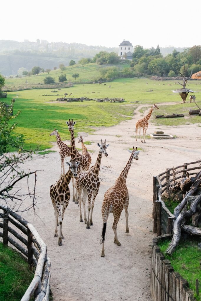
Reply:
<svg viewBox="0 0 201 301"><path fill-rule="evenodd" d="M148 85L146 84L147 81ZM187 118L155 119L156 112L154 112L151 120L158 126L200 123L200 117L188 114L188 109L195 109L197 108L196 105L178 104L181 102L181 98L178 94L171 92L173 87L168 86L168 82L165 82L165 85L159 85L159 82L147 79L116 79L107 83L111 85L111 88L99 84L85 84L84 86L74 85L74 87L59 90L59 95L68 92L69 94L72 93L73 97L120 97L126 100L123 104L97 103L94 101L57 103L54 101L58 96L43 96L44 94L51 94L49 89L8 92L8 98L2 100L9 103L11 98L16 99L14 113L17 110L22 111L17 120L18 127L16 131L24 135L26 147L34 148L40 144L40 151L42 151L51 147L50 142L56 141L54 136L49 137L49 134L55 128L59 131L62 140L70 140L70 133L65 124L65 121L69 118L73 118L77 122L75 135L78 132L92 133L99 126L113 126L131 118L134 110L140 104L147 104L147 107L143 108L143 110L146 110L153 103L172 102L174 104L160 105L157 114L182 112L187 115ZM195 83L190 83L190 88L196 89ZM153 89L153 92L146 92L150 88ZM178 88L178 85L175 88ZM198 91L198 89L196 90ZM196 102L201 107L199 99L199 93L197 93ZM134 101L139 101L139 104L133 103ZM133 134L135 136L135 129Z"/></svg>

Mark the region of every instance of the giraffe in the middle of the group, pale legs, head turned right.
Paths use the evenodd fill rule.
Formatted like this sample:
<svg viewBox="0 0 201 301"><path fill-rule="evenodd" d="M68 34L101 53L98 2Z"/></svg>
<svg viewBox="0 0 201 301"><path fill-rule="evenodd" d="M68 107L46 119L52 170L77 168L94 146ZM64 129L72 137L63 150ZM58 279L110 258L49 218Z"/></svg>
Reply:
<svg viewBox="0 0 201 301"><path fill-rule="evenodd" d="M78 192L78 200L79 200L78 206L80 206L80 222L83 222L82 211L81 211L81 203L83 203L84 220L85 220L85 224L87 224L86 226L87 229L90 229L90 225L93 226L92 214L94 209L94 201L100 187L100 181L98 175L101 166L102 154L104 154L106 157L108 156L107 147L109 146L109 144L106 145L106 140L103 143L101 139L101 144L97 143L97 145L100 147L100 150L97 156L96 163L94 164L94 166L91 166L89 170L80 172L76 181L76 190ZM83 190L83 199L81 199L82 190ZM85 210L85 202L87 197L88 197L88 219L86 218L86 210ZM91 216L89 219L90 210L91 210Z"/></svg>

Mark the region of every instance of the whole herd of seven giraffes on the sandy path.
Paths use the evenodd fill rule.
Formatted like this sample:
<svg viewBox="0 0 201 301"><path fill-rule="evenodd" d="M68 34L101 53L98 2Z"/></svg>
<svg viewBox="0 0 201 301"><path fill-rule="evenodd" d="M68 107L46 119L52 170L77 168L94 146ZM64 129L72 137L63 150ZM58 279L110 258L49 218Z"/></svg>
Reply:
<svg viewBox="0 0 201 301"><path fill-rule="evenodd" d="M143 137L141 142L145 142L145 134L148 127L148 119L151 116L153 109L158 109L158 107L154 104L149 111L148 115L146 115L143 119L138 120L136 123L136 141L137 141L137 131L139 130L139 136L141 139L140 131L143 129ZM59 226L59 237L58 237L58 245L62 245L62 222L64 219L65 209L69 205L70 200L70 190L69 183L72 179L73 185L73 201L78 204L80 207L80 222L83 222L82 218L82 206L84 211L84 221L86 224L86 228L90 229L90 226L93 225L92 214L94 208L95 198L98 194L100 181L98 178L100 167L101 167L101 158L104 154L106 157L107 147L109 144L106 144L106 140L104 142L101 139L101 144L97 143L99 147L99 153L97 155L97 160L93 166L90 167L91 164L91 156L83 142L82 136L78 138L78 143L82 145L82 154L78 152L75 148L75 136L74 136L74 125L73 119L66 122L68 125L70 134L71 134L71 145L70 147L62 142L60 135L56 129L50 134L56 135L57 145L59 147L59 154L61 157L61 175L59 180L50 186L50 197L54 207L55 214L55 231L54 236L58 237L57 226ZM100 243L102 244L101 256L105 256L104 252L104 240L105 233L107 227L107 219L110 213L113 213L114 222L113 222L113 231L114 231L114 243L120 246L120 241L117 238L117 224L120 219L121 212L124 208L125 216L126 216L126 233L129 233L128 227L128 205L129 205L129 194L126 186L126 178L131 167L133 159L138 160L139 151L137 147L133 147L132 151L129 151L131 156L126 164L125 168L121 172L120 176L116 179L114 185L109 188L104 194L104 200L102 204L102 218L103 218L103 229ZM64 159L65 157L70 157L70 163L66 162L69 166L68 172L65 173L64 168ZM75 178L75 181L74 181ZM85 203L86 198L88 198L88 216L86 216ZM82 206L81 206L82 204Z"/></svg>

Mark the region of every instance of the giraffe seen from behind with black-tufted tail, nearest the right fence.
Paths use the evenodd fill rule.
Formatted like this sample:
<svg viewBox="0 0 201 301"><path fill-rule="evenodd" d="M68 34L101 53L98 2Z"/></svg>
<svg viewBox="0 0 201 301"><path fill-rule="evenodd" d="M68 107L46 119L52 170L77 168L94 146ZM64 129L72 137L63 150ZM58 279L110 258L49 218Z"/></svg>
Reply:
<svg viewBox="0 0 201 301"><path fill-rule="evenodd" d="M114 243L117 244L117 246L121 245L117 238L116 227L119 222L123 207L125 209L125 215L126 215L126 233L129 233L129 227L128 227L129 194L126 186L126 178L130 166L132 164L132 160L133 159L138 160L138 154L140 151L137 151L137 147L135 149L135 147L133 146L133 150L129 152L131 152L131 156L128 160L128 163L126 164L125 168L121 172L120 176L116 179L115 184L111 188L109 188L104 194L104 200L102 204L103 230L102 230L102 236L100 240L100 244L102 244L101 257L105 256L104 240L105 240L107 219L110 213L113 213L114 216L114 222L112 226L114 231Z"/></svg>

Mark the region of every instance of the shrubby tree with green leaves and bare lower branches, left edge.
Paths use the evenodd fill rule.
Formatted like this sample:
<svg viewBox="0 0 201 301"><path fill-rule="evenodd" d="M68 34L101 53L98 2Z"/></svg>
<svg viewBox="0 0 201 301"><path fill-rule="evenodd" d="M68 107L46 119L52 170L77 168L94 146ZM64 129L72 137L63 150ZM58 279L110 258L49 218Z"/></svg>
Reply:
<svg viewBox="0 0 201 301"><path fill-rule="evenodd" d="M23 136L14 133L17 126L14 119L21 112L18 111L12 116L13 106L14 100L11 101L10 107L0 102L0 202L12 207L14 211L18 211L22 201L27 197L31 200L27 209L35 206L36 171L31 172L23 169L24 163L27 159L30 160L33 151L24 150ZM17 152L13 152L16 150ZM10 153L10 151L12 152ZM32 174L35 174L34 183L33 188L30 189L30 176ZM27 192L20 189L19 181L23 178L27 178Z"/></svg>

